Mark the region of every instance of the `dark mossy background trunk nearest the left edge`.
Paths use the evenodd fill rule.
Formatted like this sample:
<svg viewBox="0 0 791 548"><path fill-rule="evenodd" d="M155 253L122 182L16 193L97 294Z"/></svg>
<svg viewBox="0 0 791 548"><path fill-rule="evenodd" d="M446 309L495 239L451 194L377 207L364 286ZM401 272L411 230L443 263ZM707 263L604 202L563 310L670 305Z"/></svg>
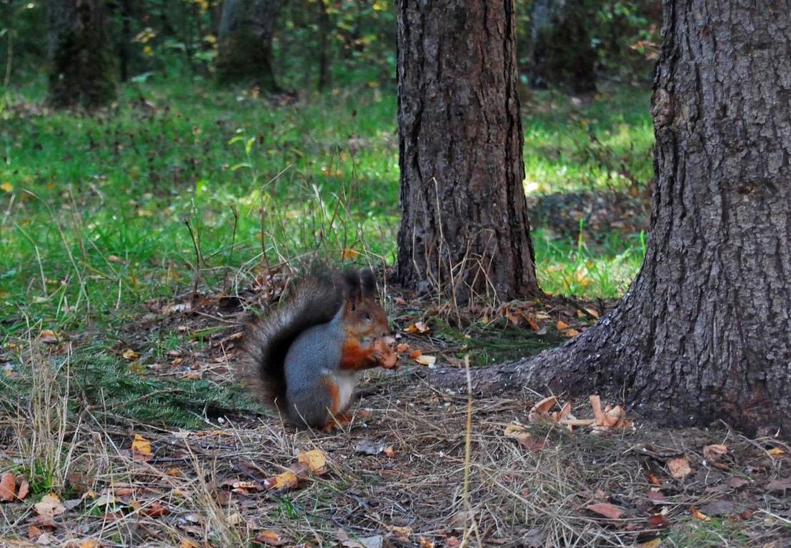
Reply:
<svg viewBox="0 0 791 548"><path fill-rule="evenodd" d="M115 99L104 0L49 0L50 75L47 103L100 107Z"/></svg>

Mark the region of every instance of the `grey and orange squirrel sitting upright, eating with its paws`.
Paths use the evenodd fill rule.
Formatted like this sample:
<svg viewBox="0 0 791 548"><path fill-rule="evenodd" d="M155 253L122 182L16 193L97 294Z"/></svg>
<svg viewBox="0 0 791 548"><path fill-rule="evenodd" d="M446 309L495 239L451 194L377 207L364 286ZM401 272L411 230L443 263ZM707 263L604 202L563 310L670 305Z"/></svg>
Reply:
<svg viewBox="0 0 791 548"><path fill-rule="evenodd" d="M395 366L384 341L387 314L376 302L370 270L313 273L291 298L248 325L243 353L248 376L290 422L331 430L345 422L357 372Z"/></svg>

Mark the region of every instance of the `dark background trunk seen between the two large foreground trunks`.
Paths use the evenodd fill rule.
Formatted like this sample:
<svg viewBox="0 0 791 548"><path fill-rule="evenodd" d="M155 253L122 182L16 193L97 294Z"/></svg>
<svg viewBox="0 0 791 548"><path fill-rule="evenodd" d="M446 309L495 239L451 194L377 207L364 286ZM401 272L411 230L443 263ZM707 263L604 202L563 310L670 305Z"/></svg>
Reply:
<svg viewBox="0 0 791 548"><path fill-rule="evenodd" d="M591 45L585 0L534 0L530 81L596 92L596 51Z"/></svg>

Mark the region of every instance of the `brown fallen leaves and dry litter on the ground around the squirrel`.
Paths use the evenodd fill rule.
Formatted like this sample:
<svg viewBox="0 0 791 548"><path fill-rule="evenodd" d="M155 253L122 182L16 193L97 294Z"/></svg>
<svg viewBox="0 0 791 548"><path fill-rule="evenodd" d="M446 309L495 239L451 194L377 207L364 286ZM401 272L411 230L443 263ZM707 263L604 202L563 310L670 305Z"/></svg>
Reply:
<svg viewBox="0 0 791 548"><path fill-rule="evenodd" d="M231 383L243 305L280 291L149 303L129 328L137 338L113 351L136 374ZM0 546L791 546L782 441L722 425L663 430L595 395L469 403L414 374L462 366L464 341L486 333L476 326L557 342L605 303L460 313L405 295L393 310L401 367L366 377L355 418L333 433L296 430L263 408L182 430L78 404L55 436L59 451L44 452L54 461L43 482L31 466L38 423L4 404ZM467 335L445 336L448 322ZM165 328L184 341L157 358L150 341ZM32 344L50 359L75 351L67 334L40 335Z"/></svg>

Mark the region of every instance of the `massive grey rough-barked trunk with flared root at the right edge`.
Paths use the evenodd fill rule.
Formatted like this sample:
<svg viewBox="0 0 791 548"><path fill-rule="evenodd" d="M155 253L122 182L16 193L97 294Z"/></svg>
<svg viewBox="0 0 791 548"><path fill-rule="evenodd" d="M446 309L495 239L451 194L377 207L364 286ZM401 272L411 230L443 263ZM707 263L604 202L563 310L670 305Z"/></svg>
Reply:
<svg viewBox="0 0 791 548"><path fill-rule="evenodd" d="M601 391L668 425L791 437L789 2L664 0L652 110L657 188L637 279L581 336L476 372L476 389Z"/></svg>

